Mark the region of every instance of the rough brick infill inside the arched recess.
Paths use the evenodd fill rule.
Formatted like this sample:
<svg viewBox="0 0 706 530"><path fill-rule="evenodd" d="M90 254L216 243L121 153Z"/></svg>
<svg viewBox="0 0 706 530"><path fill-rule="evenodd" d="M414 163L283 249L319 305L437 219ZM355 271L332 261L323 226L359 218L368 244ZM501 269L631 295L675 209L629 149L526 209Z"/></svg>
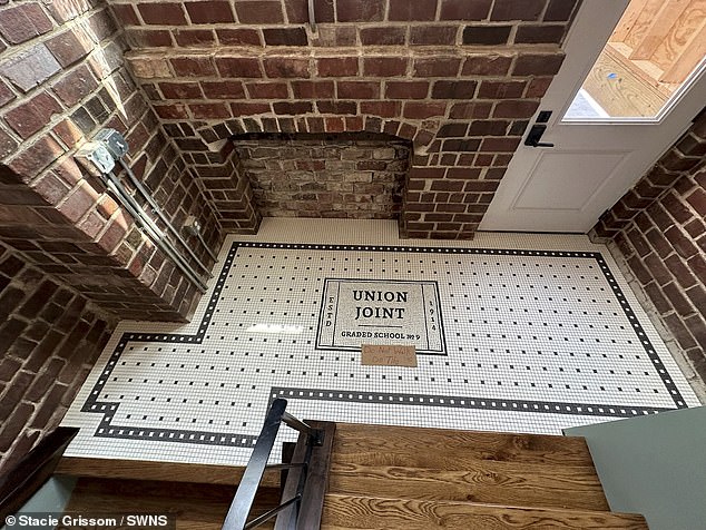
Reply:
<svg viewBox="0 0 706 530"><path fill-rule="evenodd" d="M410 143L386 135L252 135L233 140L264 217L396 219Z"/></svg>

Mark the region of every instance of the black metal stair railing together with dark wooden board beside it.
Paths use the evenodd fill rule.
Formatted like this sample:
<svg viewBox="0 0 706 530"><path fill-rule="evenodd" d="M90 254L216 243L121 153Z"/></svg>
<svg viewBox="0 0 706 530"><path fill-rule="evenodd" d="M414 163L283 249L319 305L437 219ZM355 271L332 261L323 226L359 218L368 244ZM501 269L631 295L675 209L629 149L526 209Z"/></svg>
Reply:
<svg viewBox="0 0 706 530"><path fill-rule="evenodd" d="M277 516L276 530L318 528L323 498L327 487L327 472L335 424L329 422L304 423L285 411L286 400L272 402L253 454L247 462L235 493L223 530L246 530L258 527ZM275 444L280 425L285 423L300 432L291 463L267 464ZM316 429L314 426L320 426ZM283 487L281 504L262 516L247 521L257 489L265 471L288 470ZM286 500L285 500L286 498ZM304 513L306 512L306 513ZM306 520L304 523L303 520ZM313 522L316 521L316 522ZM315 524L312 526L312 524Z"/></svg>

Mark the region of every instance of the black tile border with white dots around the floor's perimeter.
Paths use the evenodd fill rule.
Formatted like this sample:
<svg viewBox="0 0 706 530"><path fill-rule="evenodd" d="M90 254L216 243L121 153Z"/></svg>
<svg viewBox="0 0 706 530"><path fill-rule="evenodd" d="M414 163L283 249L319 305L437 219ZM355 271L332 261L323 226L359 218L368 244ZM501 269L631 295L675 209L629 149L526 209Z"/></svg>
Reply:
<svg viewBox="0 0 706 530"><path fill-rule="evenodd" d="M89 396L87 398L81 412L92 412L102 414L99 426L94 436L129 439L158 442L195 443L202 445L228 445L228 446L252 446L256 436L252 434L234 434L223 432L188 431L174 429L144 429L135 426L120 426L111 424L112 418L120 403L101 402L98 400L104 386L109 380L112 370L118 364L128 342L153 342L165 344L200 344L206 335L208 325L213 318L220 293L226 283L231 267L239 248L271 248L271 249L293 249L293 251L339 251L339 252L405 252L419 254L469 254L488 256L533 256L533 257L568 257L595 259L602 272L614 295L620 303L628 322L630 322L643 349L647 353L653 365L657 370L663 384L669 392L676 409L685 409L687 405L678 391L671 376L664 366L657 351L647 337L645 330L637 320L633 307L630 307L622 289L618 285L612 272L599 252L575 252L575 251L526 251L526 249L498 249L498 248L455 248L455 247L416 247L416 246L385 246L385 245L320 245L320 244L292 244L292 243L259 243L259 242L235 242L223 263L220 273L216 278L214 291L208 300L206 310L195 334L179 333L136 333L126 332L120 336L118 345L114 350L106 367L98 377ZM326 398L317 398L314 394L325 394ZM298 394L298 395L294 395ZM306 395L307 398L303 398ZM351 398L347 398L347 396ZM359 398L360 395L360 398ZM481 409L504 412L529 412L540 414L573 414L573 415L597 415L615 418L634 418L643 414L654 414L675 409L667 408L636 408L628 405L607 405L599 403L569 403L569 402L543 402L502 400L489 398L449 396L432 394L396 394L396 393L361 393L336 390L312 390L312 389L288 389L273 387L269 401L273 396L290 396L291 399L321 399L324 401L349 401L357 403L385 403L399 405L423 405L444 406L459 409ZM332 398L333 396L333 398ZM345 396L345 398L342 398ZM601 411L608 411L604 413Z"/></svg>

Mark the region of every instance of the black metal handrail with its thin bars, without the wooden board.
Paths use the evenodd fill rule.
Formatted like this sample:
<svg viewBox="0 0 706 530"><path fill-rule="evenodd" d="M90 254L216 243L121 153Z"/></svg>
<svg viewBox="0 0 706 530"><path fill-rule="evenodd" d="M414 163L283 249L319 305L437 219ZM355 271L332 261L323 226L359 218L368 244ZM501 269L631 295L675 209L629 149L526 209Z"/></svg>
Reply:
<svg viewBox="0 0 706 530"><path fill-rule="evenodd" d="M246 530L249 528L255 528L292 506L294 506L294 509L298 512L298 504L302 500L302 491L306 481L306 472L308 470L312 449L314 445L322 445L324 433L322 430L313 429L306 423L285 412L286 406L286 400L277 399L272 402L272 406L269 408L269 411L267 411L267 415L265 416L263 429L259 433L259 436L257 438L255 448L253 449L253 454L247 462L247 468L243 473L241 484L235 492L235 497L233 499L233 502L231 503L231 508L228 509L228 514L226 516L225 522L223 523L223 530ZM292 429L295 429L307 436L308 443L306 448L306 455L303 462L268 465L267 460L269 459L272 448L275 444L275 439L277 438L280 425L283 422ZM301 473L300 481L296 488L296 493L294 494L294 497L292 499L287 499L278 507L259 516L251 522L247 522L247 517L253 507L253 502L255 501L255 494L257 493L257 488L259 487L265 470L283 470L295 468L300 468Z"/></svg>

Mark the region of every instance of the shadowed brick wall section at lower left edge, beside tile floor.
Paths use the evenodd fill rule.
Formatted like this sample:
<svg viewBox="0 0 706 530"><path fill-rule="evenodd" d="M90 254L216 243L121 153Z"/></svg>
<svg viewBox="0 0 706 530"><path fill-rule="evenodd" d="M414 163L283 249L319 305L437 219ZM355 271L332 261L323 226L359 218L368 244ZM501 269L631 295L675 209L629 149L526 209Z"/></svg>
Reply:
<svg viewBox="0 0 706 530"><path fill-rule="evenodd" d="M0 473L58 425L114 324L0 244Z"/></svg>

